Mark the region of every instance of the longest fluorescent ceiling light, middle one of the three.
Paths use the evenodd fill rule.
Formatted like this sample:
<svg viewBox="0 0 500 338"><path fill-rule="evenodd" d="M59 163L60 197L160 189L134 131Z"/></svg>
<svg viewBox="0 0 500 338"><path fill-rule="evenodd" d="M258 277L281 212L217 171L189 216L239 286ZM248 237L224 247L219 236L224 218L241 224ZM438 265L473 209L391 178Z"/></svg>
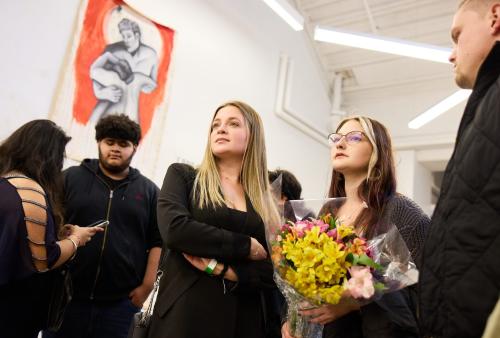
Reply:
<svg viewBox="0 0 500 338"><path fill-rule="evenodd" d="M386 38L374 34L355 33L316 26L314 39L338 45L363 48L412 58L449 63L451 49L411 41Z"/></svg>

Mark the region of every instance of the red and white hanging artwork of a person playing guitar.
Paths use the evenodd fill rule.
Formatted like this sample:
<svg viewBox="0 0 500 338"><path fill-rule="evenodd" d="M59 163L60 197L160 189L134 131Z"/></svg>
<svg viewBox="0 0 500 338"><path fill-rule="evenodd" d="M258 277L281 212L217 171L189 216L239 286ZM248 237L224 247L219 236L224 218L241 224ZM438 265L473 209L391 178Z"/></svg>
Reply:
<svg viewBox="0 0 500 338"><path fill-rule="evenodd" d="M82 0L49 118L72 137L67 157L97 156L95 124L108 114L139 123L134 163L154 175L169 97L174 31L121 0Z"/></svg>

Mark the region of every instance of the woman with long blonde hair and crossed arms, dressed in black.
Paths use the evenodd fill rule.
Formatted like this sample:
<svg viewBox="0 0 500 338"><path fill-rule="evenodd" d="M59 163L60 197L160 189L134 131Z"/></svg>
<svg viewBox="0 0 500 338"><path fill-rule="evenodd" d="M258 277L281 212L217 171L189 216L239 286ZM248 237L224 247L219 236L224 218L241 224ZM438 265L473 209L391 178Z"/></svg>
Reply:
<svg viewBox="0 0 500 338"><path fill-rule="evenodd" d="M149 337L264 337L263 291L275 287L267 175L262 122L238 101L215 111L198 169L169 167L158 199L168 255Z"/></svg>

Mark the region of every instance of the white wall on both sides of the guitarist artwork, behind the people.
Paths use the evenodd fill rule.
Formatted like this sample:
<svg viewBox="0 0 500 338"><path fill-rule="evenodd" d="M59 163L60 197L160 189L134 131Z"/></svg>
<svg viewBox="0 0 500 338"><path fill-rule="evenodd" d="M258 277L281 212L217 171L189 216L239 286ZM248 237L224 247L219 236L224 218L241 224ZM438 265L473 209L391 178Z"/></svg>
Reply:
<svg viewBox="0 0 500 338"><path fill-rule="evenodd" d="M239 99L261 114L269 167L294 172L305 197L325 194L328 148L274 114L279 59L285 53L294 64L290 106L311 124L327 130L328 87L305 33L291 30L261 1L129 3L176 31L168 108L163 112L166 128L162 143L151 149L160 152L160 160L135 166L161 184L170 163L199 163L215 108ZM48 116L78 6L77 0L2 4L0 28L9 32L5 44L9 48L0 56L0 70L8 78L0 85L0 111L7 117L0 138L26 121Z"/></svg>

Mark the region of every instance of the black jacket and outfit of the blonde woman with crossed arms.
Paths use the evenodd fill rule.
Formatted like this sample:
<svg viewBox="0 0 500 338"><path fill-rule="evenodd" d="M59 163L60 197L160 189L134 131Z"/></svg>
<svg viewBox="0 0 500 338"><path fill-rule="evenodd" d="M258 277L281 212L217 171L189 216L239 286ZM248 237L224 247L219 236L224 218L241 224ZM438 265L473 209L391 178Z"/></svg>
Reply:
<svg viewBox="0 0 500 338"><path fill-rule="evenodd" d="M263 290L275 287L269 259L249 261L250 237L266 246L264 224L247 212L192 203L195 170L169 167L158 199L158 224L168 255L149 337L264 337ZM193 267L182 255L215 258L237 273L236 286Z"/></svg>

